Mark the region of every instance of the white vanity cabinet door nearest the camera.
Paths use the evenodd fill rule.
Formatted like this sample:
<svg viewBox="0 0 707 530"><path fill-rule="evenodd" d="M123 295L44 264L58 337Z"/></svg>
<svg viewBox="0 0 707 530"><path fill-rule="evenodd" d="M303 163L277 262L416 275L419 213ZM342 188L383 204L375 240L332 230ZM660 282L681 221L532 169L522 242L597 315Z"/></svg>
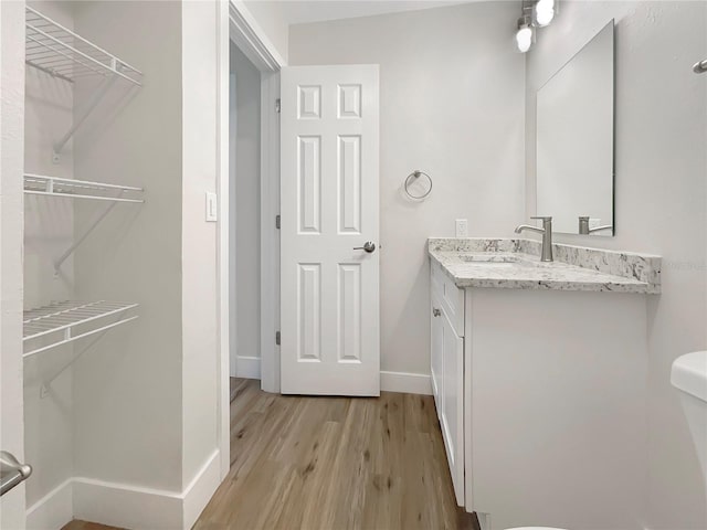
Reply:
<svg viewBox="0 0 707 530"><path fill-rule="evenodd" d="M442 436L456 504L464 506L464 339L443 311L442 317Z"/></svg>

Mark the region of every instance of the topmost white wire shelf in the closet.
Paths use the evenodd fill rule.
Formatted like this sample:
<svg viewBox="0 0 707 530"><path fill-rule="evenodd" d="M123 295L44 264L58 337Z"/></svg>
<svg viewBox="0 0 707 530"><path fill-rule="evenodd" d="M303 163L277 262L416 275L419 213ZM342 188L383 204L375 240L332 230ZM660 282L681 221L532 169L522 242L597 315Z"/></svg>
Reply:
<svg viewBox="0 0 707 530"><path fill-rule="evenodd" d="M91 75L117 75L140 85L140 71L30 7L25 7L25 25L30 66L70 83Z"/></svg>

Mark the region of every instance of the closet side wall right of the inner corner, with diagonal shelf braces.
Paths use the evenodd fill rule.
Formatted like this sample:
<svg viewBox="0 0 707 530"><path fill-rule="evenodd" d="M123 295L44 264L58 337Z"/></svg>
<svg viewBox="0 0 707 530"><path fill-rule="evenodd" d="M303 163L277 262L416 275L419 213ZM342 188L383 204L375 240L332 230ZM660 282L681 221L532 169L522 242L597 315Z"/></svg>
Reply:
<svg viewBox="0 0 707 530"><path fill-rule="evenodd" d="M181 19L180 2L80 2L75 12L78 32L145 74L139 89L116 83L78 130L75 177L146 190L145 204L117 205L76 251L80 299L140 307L75 364L75 473L171 491L182 488ZM103 206L76 203L76 231Z"/></svg>

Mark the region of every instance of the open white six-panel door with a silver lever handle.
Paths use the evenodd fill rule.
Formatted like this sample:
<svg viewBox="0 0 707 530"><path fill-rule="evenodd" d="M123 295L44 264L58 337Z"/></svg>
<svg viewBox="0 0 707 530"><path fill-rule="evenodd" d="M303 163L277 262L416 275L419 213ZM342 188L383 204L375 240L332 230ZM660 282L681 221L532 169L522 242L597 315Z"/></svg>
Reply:
<svg viewBox="0 0 707 530"><path fill-rule="evenodd" d="M281 85L285 394L380 394L378 65L299 66Z"/></svg>

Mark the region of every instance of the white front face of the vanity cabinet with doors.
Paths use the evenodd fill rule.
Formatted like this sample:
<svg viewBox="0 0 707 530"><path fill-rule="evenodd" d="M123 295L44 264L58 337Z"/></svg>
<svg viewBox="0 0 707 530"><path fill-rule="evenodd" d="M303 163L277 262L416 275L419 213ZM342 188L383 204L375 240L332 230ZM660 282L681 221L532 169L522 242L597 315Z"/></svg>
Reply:
<svg viewBox="0 0 707 530"><path fill-rule="evenodd" d="M456 502L464 506L464 289L436 264L431 286L432 391Z"/></svg>

